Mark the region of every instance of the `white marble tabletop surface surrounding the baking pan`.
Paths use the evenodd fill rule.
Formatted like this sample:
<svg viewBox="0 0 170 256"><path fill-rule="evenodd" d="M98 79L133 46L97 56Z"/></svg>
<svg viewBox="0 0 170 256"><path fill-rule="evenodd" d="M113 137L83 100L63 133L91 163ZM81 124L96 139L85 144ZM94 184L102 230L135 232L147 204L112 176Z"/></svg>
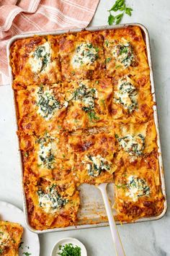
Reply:
<svg viewBox="0 0 170 256"><path fill-rule="evenodd" d="M107 9L112 6L113 2L100 1L91 25L107 25ZM122 22L140 22L146 25L151 36L166 190L168 200L170 200L170 1L129 0L128 3L130 7L133 7L133 16L124 17ZM22 208L9 86L0 88L0 106L0 200L11 202ZM170 255L170 210L159 221L128 224L119 226L118 229L126 255ZM115 255L109 228L105 227L42 234L40 235L40 256L50 256L53 244L66 236L80 239L86 245L88 256Z"/></svg>

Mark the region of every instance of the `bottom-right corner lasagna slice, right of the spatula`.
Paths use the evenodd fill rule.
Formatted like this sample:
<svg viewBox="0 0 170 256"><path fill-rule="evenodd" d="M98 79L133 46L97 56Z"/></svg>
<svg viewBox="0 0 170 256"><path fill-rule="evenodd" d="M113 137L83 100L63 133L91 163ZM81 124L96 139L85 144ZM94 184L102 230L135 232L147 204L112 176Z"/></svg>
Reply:
<svg viewBox="0 0 170 256"><path fill-rule="evenodd" d="M164 196L156 153L115 172L115 209L119 221L135 221L161 214Z"/></svg>

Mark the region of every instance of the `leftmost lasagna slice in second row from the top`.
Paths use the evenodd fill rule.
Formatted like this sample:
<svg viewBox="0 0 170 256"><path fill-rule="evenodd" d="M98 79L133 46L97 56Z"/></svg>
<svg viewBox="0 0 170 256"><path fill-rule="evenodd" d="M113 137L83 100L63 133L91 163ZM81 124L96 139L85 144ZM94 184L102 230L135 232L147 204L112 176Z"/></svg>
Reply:
<svg viewBox="0 0 170 256"><path fill-rule="evenodd" d="M19 129L24 133L41 135L61 129L68 108L61 84L30 85L17 90L16 100Z"/></svg>

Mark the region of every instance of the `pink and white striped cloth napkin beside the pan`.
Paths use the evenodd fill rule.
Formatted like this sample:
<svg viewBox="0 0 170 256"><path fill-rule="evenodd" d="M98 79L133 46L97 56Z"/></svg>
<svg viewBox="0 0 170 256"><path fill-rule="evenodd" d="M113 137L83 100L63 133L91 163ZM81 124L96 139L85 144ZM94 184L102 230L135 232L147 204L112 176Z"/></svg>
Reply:
<svg viewBox="0 0 170 256"><path fill-rule="evenodd" d="M99 0L0 0L0 85L9 84L6 44L23 33L86 27Z"/></svg>

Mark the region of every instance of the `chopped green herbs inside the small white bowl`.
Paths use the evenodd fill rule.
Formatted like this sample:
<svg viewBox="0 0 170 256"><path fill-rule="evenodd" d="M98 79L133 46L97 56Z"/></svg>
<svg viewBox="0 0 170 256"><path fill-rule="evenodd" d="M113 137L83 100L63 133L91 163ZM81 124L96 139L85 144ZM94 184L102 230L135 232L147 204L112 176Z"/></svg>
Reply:
<svg viewBox="0 0 170 256"><path fill-rule="evenodd" d="M73 247L73 244L60 245L59 249L62 250L58 252L58 255L61 256L81 256L81 248L77 245Z"/></svg>

